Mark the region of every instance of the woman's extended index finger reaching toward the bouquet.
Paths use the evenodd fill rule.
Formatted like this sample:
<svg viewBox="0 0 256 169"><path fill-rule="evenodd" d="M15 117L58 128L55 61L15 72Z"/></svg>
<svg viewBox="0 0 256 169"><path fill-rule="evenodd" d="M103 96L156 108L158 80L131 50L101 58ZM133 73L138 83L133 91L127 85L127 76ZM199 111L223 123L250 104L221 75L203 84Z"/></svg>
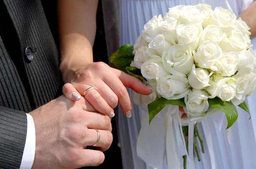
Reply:
<svg viewBox="0 0 256 169"><path fill-rule="evenodd" d="M114 74L117 75L117 77L121 80L125 87L131 88L134 90L134 92L140 93L142 95L151 94L152 90L145 86L136 77L132 77L131 75L114 68L111 68L111 70L114 72Z"/></svg>

